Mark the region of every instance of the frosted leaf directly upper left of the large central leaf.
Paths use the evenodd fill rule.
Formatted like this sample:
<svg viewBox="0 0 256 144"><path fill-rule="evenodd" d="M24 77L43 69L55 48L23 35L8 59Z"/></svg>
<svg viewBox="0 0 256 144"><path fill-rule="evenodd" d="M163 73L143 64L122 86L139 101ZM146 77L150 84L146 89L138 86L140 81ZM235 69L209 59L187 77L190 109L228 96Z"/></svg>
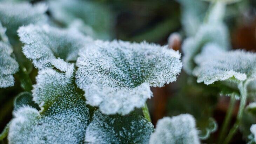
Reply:
<svg viewBox="0 0 256 144"><path fill-rule="evenodd" d="M23 53L39 69L52 67L57 57L67 62L76 61L79 49L93 42L76 30L49 25L20 27L18 33L20 40L25 43Z"/></svg>

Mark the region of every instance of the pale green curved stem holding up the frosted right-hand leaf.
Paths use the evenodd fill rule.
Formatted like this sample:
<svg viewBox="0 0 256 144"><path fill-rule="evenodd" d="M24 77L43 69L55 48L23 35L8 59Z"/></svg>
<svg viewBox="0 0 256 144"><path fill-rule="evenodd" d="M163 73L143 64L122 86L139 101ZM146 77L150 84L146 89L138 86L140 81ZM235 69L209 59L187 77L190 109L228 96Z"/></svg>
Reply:
<svg viewBox="0 0 256 144"><path fill-rule="evenodd" d="M246 100L247 100L247 84L245 83L240 83L238 86L239 90L240 90L240 106L239 106L239 110L237 113L237 117L236 117L236 122L233 126L233 128L229 131L229 134L227 136L227 138L224 141L224 144L228 144L230 142L230 140L233 138L233 136L235 135L239 124L241 122L241 119L243 117L243 111L244 111L244 107L246 104Z"/></svg>

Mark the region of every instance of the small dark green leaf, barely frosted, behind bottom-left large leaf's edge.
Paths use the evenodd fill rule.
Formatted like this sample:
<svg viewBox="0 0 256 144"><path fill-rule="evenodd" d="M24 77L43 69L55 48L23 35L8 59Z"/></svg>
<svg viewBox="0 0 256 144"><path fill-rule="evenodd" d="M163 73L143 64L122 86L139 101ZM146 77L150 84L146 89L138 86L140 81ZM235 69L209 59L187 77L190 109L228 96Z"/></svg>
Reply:
<svg viewBox="0 0 256 144"><path fill-rule="evenodd" d="M19 95L15 97L14 100L14 110L18 110L19 108L23 107L24 105L30 106L39 110L38 104L33 101L32 94L30 92L21 92Z"/></svg>

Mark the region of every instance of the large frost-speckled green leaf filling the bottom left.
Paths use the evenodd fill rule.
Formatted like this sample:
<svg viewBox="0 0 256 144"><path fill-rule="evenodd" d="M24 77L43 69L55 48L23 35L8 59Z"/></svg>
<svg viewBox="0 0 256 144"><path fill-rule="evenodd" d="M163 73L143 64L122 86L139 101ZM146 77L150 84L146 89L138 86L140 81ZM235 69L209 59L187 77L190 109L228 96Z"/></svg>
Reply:
<svg viewBox="0 0 256 144"><path fill-rule="evenodd" d="M39 71L34 85L34 101L40 111L24 106L14 112L9 143L82 143L89 124L89 109L76 87L74 66L61 60L58 70Z"/></svg>

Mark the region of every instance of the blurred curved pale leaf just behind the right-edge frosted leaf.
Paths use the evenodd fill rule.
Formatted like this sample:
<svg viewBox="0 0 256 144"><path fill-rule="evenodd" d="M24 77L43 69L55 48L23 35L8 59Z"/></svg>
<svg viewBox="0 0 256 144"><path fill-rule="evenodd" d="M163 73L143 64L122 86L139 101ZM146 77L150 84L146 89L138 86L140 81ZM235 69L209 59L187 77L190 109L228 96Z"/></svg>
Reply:
<svg viewBox="0 0 256 144"><path fill-rule="evenodd" d="M195 62L194 57L201 52L202 47L207 43L215 43L222 49L229 49L229 36L227 28L223 23L203 24L194 37L189 37L182 44L184 53L184 70L192 74Z"/></svg>

